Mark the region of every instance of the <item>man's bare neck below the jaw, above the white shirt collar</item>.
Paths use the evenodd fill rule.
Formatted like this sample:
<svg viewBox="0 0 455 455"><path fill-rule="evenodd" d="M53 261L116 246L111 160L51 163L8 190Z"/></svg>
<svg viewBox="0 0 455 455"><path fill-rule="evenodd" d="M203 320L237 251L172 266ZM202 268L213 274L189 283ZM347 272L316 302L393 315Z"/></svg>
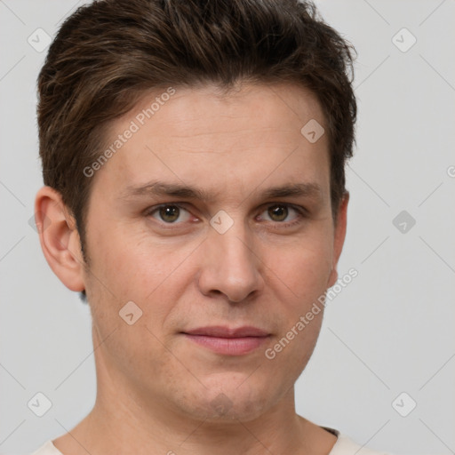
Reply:
<svg viewBox="0 0 455 455"><path fill-rule="evenodd" d="M129 384L96 359L98 395L90 414L54 444L64 455L326 455L336 437L299 417L294 388L248 421L188 415L160 394Z"/></svg>

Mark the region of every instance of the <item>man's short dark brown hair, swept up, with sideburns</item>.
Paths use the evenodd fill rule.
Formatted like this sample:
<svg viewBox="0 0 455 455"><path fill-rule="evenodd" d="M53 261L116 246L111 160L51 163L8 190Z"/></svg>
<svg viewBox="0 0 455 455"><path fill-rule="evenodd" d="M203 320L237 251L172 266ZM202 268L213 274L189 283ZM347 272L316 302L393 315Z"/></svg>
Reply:
<svg viewBox="0 0 455 455"><path fill-rule="evenodd" d="M38 77L37 113L44 184L74 215L83 253L92 183L84 168L105 147L109 122L145 91L169 85L289 82L314 92L328 128L335 217L355 142L353 51L314 4L299 0L100 0L78 8Z"/></svg>

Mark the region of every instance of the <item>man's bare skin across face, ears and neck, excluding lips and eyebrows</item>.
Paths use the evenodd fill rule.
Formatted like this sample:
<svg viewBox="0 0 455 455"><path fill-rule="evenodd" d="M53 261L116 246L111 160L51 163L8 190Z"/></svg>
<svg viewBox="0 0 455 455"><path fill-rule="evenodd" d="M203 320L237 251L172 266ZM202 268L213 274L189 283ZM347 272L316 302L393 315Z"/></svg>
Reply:
<svg viewBox="0 0 455 455"><path fill-rule="evenodd" d="M144 95L111 125L108 144L156 95ZM38 192L37 224L51 220L40 233L44 255L69 289L86 290L97 347L96 403L54 441L62 453L331 451L336 437L294 407L294 384L323 311L273 360L264 355L338 279L348 194L334 223L328 138L312 144L302 136L310 119L325 125L315 96L291 84L243 84L225 95L212 85L176 87L92 177L88 265L60 195L48 187ZM126 196L154 180L211 197ZM263 196L267 188L304 182L320 191ZM179 204L180 218L163 220L153 212L158 204ZM281 218L268 210L276 205ZM220 210L234 223L224 234L210 225ZM128 301L143 312L132 325L119 316ZM204 325L253 325L270 336L249 354L220 355L180 333ZM221 413L214 406L220 396L227 403Z"/></svg>

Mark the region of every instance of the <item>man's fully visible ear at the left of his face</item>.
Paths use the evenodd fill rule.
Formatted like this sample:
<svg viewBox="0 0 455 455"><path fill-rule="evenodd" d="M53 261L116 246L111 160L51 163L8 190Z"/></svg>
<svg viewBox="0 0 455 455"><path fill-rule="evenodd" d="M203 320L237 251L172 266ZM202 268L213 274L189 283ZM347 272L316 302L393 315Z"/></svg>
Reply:
<svg viewBox="0 0 455 455"><path fill-rule="evenodd" d="M71 291L84 291L84 259L76 220L60 193L43 187L36 193L35 222L41 248L55 275Z"/></svg>

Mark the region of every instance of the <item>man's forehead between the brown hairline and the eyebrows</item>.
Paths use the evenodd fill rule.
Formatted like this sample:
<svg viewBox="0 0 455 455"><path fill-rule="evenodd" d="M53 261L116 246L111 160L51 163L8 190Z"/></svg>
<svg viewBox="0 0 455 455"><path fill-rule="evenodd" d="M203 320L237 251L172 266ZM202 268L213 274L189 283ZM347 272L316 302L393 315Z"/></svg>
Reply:
<svg viewBox="0 0 455 455"><path fill-rule="evenodd" d="M228 93L205 85L147 93L110 125L107 147L115 142L120 147L97 180L117 194L156 176L220 193L234 187L244 192L266 178L270 185L282 180L328 185L327 135L307 140L302 128L311 122L326 129L313 93L295 85L250 84Z"/></svg>

